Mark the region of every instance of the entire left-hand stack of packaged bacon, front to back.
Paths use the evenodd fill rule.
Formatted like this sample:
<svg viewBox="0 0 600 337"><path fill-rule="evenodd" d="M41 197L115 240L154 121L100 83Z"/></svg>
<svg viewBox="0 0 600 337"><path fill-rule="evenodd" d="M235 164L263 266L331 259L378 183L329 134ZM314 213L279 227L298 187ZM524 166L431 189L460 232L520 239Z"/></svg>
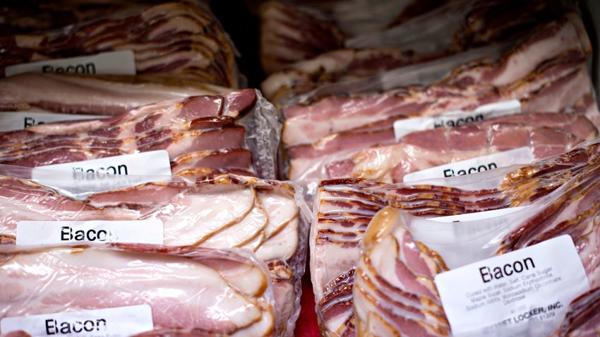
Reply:
<svg viewBox="0 0 600 337"><path fill-rule="evenodd" d="M0 37L0 334L293 336L310 211L220 23L60 2Z"/></svg>

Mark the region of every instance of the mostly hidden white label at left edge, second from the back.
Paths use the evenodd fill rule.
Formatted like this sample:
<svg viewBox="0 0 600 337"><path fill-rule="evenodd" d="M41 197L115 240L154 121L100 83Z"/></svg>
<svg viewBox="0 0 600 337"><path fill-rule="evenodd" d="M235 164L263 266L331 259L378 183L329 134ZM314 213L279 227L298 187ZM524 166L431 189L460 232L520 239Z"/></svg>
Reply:
<svg viewBox="0 0 600 337"><path fill-rule="evenodd" d="M32 125L84 119L107 118L111 116L58 114L40 110L0 112L0 132L21 130Z"/></svg>

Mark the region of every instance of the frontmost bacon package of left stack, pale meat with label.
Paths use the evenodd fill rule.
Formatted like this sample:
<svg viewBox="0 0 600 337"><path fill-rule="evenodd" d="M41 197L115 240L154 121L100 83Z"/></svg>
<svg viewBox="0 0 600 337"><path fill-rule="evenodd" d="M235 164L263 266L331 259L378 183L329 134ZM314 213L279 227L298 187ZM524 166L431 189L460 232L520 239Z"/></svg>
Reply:
<svg viewBox="0 0 600 337"><path fill-rule="evenodd" d="M194 246L0 245L0 333L272 336L268 270Z"/></svg>

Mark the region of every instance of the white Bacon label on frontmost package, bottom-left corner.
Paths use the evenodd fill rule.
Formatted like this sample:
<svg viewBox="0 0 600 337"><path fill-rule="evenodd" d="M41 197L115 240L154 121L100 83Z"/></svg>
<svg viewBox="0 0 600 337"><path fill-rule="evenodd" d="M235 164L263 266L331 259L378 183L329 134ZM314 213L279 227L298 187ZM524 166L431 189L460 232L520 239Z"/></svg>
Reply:
<svg viewBox="0 0 600 337"><path fill-rule="evenodd" d="M150 305L4 317L0 321L3 334L22 330L31 336L132 336L152 329Z"/></svg>

